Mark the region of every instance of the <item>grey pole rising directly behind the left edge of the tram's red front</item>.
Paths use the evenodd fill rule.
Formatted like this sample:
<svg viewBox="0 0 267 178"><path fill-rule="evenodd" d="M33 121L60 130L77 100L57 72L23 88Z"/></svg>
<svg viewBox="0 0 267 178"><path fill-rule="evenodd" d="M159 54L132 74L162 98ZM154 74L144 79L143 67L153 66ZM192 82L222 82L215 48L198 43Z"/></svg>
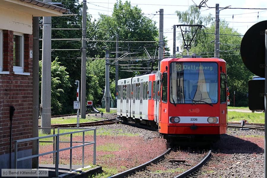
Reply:
<svg viewBox="0 0 267 178"><path fill-rule="evenodd" d="M158 36L158 70L160 70L160 61L163 59L163 9L160 9L159 36Z"/></svg>

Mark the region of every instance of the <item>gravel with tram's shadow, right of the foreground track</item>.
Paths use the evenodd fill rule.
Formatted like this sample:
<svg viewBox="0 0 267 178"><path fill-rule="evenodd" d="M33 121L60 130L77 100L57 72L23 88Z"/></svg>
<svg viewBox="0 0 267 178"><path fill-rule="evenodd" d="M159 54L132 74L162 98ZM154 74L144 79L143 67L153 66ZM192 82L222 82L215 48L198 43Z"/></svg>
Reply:
<svg viewBox="0 0 267 178"><path fill-rule="evenodd" d="M228 134L213 145L211 160L199 172L203 177L246 178L264 176L264 131L239 131L228 128Z"/></svg>

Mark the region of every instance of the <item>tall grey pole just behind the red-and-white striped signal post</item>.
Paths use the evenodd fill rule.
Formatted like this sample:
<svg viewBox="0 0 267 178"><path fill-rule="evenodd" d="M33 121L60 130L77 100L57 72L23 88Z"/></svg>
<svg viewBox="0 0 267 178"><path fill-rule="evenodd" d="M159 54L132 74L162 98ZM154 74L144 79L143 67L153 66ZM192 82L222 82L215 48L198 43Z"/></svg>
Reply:
<svg viewBox="0 0 267 178"><path fill-rule="evenodd" d="M86 0L82 1L81 118L86 117Z"/></svg>

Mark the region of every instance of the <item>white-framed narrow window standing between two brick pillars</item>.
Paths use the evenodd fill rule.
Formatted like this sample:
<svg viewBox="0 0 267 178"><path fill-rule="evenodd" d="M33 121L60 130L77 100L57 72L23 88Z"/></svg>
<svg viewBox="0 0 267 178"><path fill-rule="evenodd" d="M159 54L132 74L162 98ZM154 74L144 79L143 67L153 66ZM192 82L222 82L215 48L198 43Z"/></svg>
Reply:
<svg viewBox="0 0 267 178"><path fill-rule="evenodd" d="M23 72L23 34L13 35L13 71Z"/></svg>

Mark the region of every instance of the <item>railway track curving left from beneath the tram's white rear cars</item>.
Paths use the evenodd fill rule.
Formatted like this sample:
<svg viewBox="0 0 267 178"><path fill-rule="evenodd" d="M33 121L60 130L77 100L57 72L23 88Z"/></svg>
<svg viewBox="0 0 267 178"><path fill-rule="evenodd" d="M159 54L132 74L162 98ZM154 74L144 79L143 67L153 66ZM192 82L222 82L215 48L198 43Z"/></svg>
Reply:
<svg viewBox="0 0 267 178"><path fill-rule="evenodd" d="M89 126L96 126L96 125L109 125L109 124L115 124L115 123L121 123L120 120L114 119L107 119L107 120L100 120L96 122L87 122L87 123L80 123L80 127L89 127ZM77 124L55 124L51 125L51 127L76 127Z"/></svg>

